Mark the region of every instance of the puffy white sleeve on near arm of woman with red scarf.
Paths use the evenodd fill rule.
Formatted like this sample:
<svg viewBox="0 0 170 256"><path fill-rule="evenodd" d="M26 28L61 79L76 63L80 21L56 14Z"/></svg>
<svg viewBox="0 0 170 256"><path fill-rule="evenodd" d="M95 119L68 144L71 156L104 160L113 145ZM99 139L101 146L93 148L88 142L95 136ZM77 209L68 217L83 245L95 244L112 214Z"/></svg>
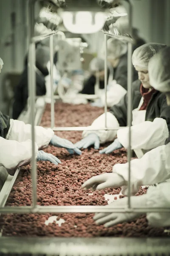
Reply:
<svg viewBox="0 0 170 256"><path fill-rule="evenodd" d="M117 131L119 142L128 148L129 128L123 128ZM139 125L131 127L131 145L132 149L152 149L164 145L169 136L167 122L163 118L155 118L153 122L145 121Z"/></svg>

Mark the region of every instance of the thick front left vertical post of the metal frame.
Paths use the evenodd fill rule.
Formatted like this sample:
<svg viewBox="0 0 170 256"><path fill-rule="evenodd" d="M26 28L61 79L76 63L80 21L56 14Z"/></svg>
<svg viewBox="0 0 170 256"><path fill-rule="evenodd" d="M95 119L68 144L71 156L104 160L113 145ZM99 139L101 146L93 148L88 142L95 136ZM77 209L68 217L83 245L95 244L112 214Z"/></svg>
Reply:
<svg viewBox="0 0 170 256"><path fill-rule="evenodd" d="M34 36L34 1L28 2L28 18L29 18L29 47L28 47L28 91L31 103L31 139L32 139L32 206L37 207L37 166L35 158L35 94L36 94L36 77L35 77L35 43L31 41Z"/></svg>

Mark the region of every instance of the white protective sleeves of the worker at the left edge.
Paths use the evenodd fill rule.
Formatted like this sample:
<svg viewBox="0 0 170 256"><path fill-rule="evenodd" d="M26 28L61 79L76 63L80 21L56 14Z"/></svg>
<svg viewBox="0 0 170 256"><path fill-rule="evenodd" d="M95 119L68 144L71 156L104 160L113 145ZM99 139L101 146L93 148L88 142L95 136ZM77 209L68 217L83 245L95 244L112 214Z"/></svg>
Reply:
<svg viewBox="0 0 170 256"><path fill-rule="evenodd" d="M51 129L35 126L35 151L47 147L54 135ZM0 137L0 166L7 170L16 169L30 162L32 157L31 125L10 119L10 128L6 139Z"/></svg>

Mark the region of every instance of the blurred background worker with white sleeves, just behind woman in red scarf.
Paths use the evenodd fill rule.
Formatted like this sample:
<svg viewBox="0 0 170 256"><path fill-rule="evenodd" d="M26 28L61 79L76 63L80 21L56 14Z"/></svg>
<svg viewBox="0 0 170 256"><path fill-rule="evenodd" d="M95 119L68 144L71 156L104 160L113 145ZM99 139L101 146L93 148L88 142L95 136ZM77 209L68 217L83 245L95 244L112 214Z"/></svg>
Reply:
<svg viewBox="0 0 170 256"><path fill-rule="evenodd" d="M111 65L110 75L112 79L108 80L107 86L107 105L111 107L117 104L120 99L127 93L127 44L117 38L109 38L107 41L107 58ZM104 56L105 50L102 50ZM95 62L93 62L94 66ZM96 63L97 64L97 63ZM95 67L96 66L96 67ZM94 66L94 70L97 71L97 66ZM103 85L104 85L104 61L103 70ZM137 72L133 70L132 81L137 79ZM102 107L105 104L105 93L104 90L100 94L100 99L94 102L94 106Z"/></svg>

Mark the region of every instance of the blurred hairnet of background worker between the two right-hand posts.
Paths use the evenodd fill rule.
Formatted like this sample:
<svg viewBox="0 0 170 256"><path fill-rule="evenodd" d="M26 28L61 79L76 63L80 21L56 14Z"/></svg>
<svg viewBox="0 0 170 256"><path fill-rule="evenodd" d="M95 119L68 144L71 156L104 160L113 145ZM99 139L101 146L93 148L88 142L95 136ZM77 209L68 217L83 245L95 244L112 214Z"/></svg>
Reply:
<svg viewBox="0 0 170 256"><path fill-rule="evenodd" d="M107 42L108 58L119 58L127 52L127 44L117 38L109 38Z"/></svg>

